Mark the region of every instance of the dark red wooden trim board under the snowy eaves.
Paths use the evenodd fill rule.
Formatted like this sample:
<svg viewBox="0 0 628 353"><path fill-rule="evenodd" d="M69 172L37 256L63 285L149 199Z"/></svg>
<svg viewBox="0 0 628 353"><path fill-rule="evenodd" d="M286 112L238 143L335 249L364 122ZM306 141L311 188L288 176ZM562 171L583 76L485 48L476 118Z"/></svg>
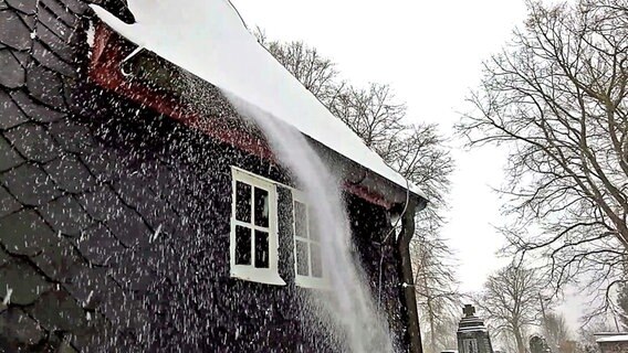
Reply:
<svg viewBox="0 0 628 353"><path fill-rule="evenodd" d="M106 24L98 22L90 61L90 78L106 89L139 103L144 107L167 115L219 141L232 145L262 159L275 161L271 148L263 139L229 125L226 119L211 118L198 114L192 107L180 103L180 99L174 96L126 79L119 65L129 52L130 47L124 39ZM391 203L386 201L379 193L364 186L345 182L343 188L347 192L373 204L385 208L391 206Z"/></svg>

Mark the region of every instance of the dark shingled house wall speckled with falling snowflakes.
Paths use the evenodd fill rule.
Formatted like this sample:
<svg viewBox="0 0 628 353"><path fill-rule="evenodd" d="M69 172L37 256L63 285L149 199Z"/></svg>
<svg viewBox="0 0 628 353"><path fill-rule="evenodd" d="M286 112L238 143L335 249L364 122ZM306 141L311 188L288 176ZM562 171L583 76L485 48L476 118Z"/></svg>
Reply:
<svg viewBox="0 0 628 353"><path fill-rule="evenodd" d="M287 189L287 286L229 277L230 165L284 173L91 84L91 15L78 0L0 0L0 351L341 351L303 323ZM347 204L378 292L385 210ZM397 261L387 250L381 302L401 336Z"/></svg>

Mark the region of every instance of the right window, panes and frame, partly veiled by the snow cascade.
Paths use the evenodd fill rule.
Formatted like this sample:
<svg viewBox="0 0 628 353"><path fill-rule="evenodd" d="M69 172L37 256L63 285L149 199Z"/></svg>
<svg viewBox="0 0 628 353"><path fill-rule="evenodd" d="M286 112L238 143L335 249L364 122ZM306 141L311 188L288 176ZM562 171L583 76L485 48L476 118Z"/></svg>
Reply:
<svg viewBox="0 0 628 353"><path fill-rule="evenodd" d="M292 195L295 282L301 287L326 287L321 238L314 222L314 213L311 212L302 192L294 190Z"/></svg>

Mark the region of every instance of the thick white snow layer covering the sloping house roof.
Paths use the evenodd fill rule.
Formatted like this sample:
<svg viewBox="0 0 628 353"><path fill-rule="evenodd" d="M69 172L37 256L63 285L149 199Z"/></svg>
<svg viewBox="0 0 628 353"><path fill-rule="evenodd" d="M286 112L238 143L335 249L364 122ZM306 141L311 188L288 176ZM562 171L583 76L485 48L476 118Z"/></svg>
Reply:
<svg viewBox="0 0 628 353"><path fill-rule="evenodd" d="M287 122L302 133L406 189L399 173L292 76L247 30L228 0L128 0L126 24L92 6L113 30ZM415 194L426 197L409 184Z"/></svg>

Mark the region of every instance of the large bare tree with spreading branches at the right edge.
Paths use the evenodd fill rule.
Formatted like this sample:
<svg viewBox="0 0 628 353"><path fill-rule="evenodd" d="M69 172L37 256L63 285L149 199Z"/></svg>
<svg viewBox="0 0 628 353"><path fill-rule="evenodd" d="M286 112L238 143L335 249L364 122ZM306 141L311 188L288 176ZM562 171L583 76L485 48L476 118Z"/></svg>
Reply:
<svg viewBox="0 0 628 353"><path fill-rule="evenodd" d="M628 7L528 3L525 28L484 66L459 131L504 146L510 249L609 292L628 244ZM607 301L608 304L608 301Z"/></svg>

